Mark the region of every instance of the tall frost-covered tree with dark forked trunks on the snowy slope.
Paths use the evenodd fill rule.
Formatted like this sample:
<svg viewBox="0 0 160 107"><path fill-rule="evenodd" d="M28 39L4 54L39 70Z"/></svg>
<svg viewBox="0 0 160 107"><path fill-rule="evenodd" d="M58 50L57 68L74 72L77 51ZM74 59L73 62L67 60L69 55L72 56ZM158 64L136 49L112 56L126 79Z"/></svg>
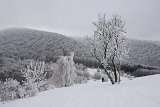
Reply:
<svg viewBox="0 0 160 107"><path fill-rule="evenodd" d="M91 55L104 67L112 84L120 82L120 62L128 53L125 23L118 15L108 20L106 14L100 14L98 21L93 24L96 27L94 34L87 38ZM107 68L110 68L111 72Z"/></svg>

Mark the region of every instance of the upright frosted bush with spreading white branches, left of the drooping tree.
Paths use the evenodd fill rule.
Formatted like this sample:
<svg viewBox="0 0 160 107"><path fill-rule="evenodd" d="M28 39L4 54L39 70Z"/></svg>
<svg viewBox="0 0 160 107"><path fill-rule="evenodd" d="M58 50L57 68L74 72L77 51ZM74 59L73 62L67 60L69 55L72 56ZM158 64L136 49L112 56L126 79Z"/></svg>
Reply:
<svg viewBox="0 0 160 107"><path fill-rule="evenodd" d="M23 89L26 90L25 96L34 96L39 91L39 87L45 84L44 79L46 73L44 72L45 63L31 61L27 66L27 69L21 70L25 81L23 83Z"/></svg>

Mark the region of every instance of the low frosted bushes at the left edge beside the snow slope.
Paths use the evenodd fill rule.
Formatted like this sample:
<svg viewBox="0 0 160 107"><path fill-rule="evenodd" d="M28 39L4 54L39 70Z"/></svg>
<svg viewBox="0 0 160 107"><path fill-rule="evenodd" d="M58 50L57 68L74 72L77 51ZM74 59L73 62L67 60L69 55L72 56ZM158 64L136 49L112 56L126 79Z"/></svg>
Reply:
<svg viewBox="0 0 160 107"><path fill-rule="evenodd" d="M31 84L26 83L20 85L20 82L11 78L6 79L5 82L1 82L0 101L34 96L35 90L31 89Z"/></svg>

